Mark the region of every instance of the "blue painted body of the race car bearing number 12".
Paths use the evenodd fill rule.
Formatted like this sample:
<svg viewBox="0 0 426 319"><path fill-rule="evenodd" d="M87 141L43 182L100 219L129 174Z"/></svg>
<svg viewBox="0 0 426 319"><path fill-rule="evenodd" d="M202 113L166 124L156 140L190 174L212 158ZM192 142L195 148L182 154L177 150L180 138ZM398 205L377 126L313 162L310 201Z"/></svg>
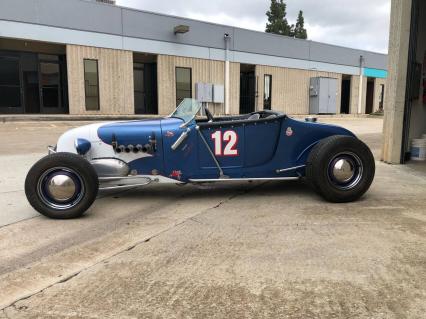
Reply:
<svg viewBox="0 0 426 319"><path fill-rule="evenodd" d="M185 132L187 138L173 149ZM212 123L195 118L184 123L175 117L115 122L100 126L97 134L111 146L144 145L154 140L152 156L131 161L130 169L137 175L161 175L179 182L219 179L215 159L231 179L301 177L310 151L320 140L333 135L354 136L338 126L299 121L279 113Z"/></svg>

